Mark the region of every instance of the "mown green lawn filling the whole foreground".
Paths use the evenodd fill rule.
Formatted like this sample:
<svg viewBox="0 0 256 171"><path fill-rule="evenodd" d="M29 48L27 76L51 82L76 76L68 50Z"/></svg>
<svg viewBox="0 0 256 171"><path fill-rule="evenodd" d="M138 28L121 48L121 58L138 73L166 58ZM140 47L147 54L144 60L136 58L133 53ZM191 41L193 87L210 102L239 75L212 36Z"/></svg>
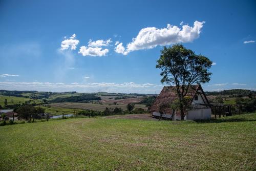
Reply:
<svg viewBox="0 0 256 171"><path fill-rule="evenodd" d="M0 127L0 170L253 170L256 113L212 120L75 118Z"/></svg>

